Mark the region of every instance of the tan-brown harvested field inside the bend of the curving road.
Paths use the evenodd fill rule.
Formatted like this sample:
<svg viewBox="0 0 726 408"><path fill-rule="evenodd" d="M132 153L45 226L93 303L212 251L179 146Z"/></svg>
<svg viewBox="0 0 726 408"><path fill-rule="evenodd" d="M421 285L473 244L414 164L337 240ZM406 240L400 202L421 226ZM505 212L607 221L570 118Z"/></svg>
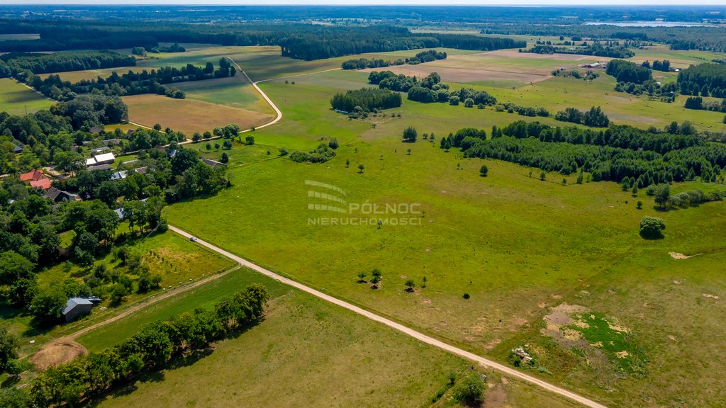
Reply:
<svg viewBox="0 0 726 408"><path fill-rule="evenodd" d="M272 115L252 110L216 105L195 99L172 99L160 95L123 97L129 105L129 121L152 126L160 123L187 134L211 131L217 126L237 123L241 128L260 126L272 120Z"/></svg>

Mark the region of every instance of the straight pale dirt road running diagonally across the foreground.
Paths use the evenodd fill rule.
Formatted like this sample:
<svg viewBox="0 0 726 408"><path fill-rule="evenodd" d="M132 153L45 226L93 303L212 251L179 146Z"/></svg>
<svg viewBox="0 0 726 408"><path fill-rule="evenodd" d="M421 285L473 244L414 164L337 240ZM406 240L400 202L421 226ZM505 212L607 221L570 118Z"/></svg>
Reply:
<svg viewBox="0 0 726 408"><path fill-rule="evenodd" d="M187 237L187 238L192 237L192 234L189 234L188 232L185 232L184 230L179 229L177 227L173 227L170 225L169 229L176 232L177 234L181 234L184 237ZM528 383L532 383L534 385L539 386L540 388L544 388L547 391L551 391L552 393L556 393L556 394L559 394L560 396L565 396L568 399L579 402L580 404L583 404L586 407L606 408L605 405L598 404L597 402L592 401L591 399L587 399L584 396L580 396L579 394L576 394L572 391L568 391L564 388L558 387L557 385L552 385L550 383L540 380L539 378L535 378L535 377L532 377L531 375L526 375L523 372L520 372L518 370L514 370L512 367L507 367L504 364L499 364L498 362L494 362L490 359L485 359L482 356L478 356L469 351L465 351L465 350L462 350L461 348L444 343L441 340L432 338L428 335L423 334L422 332L417 332L416 330L413 330L409 327L401 325L400 323L393 322L393 320L391 320L391 319L386 319L386 317L381 317L378 314L372 313L371 311L367 311L365 309L361 309L358 306L354 306L351 303L348 303L346 301L341 301L338 298L333 298L333 296L326 295L325 293L322 293L319 290L314 290L311 287L307 287L306 285L301 284L300 282L295 282L294 280L290 280L286 277L283 277L279 274L269 271L268 269L264 269L262 266L253 264L252 262L247 261L244 258L240 258L239 256L236 256L232 253L229 253L226 250L223 250L215 245L212 245L209 242L205 242L203 240L197 240L197 243L200 245L204 245L206 248L209 248L209 249L215 251L216 253L220 253L221 255L227 256L227 258L230 258L233 261L239 262L240 265L242 265L242 266L245 266L249 269L253 269L261 274L271 277L274 280L278 280L282 283L285 283L285 285L290 285L292 287L295 287L296 289L302 290L303 292L310 293L311 295L314 295L317 298L321 298L324 301L328 301L337 306L340 306L340 307L343 307L350 311L353 311L354 313L360 314L363 317L367 317L368 319L371 319L374 322L379 322L379 323L386 325L388 327L391 327L395 330L404 332L405 334L411 336L412 338L420 340L423 343L430 344L431 346L436 346L445 351L449 351L449 353L456 354L457 356L461 356L465 359L469 359L474 362L478 362L479 364L483 365L484 367L489 367L493 370L497 370L506 375L510 375L513 378L518 378L518 379L524 380Z"/></svg>

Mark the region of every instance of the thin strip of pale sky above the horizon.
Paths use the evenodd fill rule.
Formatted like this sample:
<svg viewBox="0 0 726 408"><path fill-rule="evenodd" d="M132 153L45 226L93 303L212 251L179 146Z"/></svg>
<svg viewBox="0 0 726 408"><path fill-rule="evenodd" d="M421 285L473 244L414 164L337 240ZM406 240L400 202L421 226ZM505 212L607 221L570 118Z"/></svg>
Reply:
<svg viewBox="0 0 726 408"><path fill-rule="evenodd" d="M253 4L327 4L327 5L346 5L346 4L362 4L362 5L423 5L423 4L441 4L441 5L711 5L726 6L726 0L0 0L1 4L236 4L236 5L253 5Z"/></svg>

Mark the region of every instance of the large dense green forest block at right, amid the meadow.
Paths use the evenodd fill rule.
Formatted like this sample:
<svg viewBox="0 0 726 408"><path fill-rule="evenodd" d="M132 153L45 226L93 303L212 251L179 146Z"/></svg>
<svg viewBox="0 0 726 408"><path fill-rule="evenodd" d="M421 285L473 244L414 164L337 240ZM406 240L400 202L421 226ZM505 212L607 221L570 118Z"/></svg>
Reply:
<svg viewBox="0 0 726 408"><path fill-rule="evenodd" d="M476 129L475 129L476 130ZM668 133L669 131L682 134ZM518 121L486 132L461 129L441 139L441 148L460 147L465 157L495 158L560 174L589 173L592 181L629 187L693 180L716 181L726 166L726 147L706 144L689 123L664 131L611 126L605 131L552 127Z"/></svg>

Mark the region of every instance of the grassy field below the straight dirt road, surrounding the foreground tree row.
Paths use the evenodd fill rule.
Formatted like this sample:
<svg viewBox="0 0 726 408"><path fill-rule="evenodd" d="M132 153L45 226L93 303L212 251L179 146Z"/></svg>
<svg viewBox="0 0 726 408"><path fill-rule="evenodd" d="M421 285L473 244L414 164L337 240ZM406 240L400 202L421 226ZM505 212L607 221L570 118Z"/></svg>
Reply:
<svg viewBox="0 0 726 408"><path fill-rule="evenodd" d="M468 370L457 357L247 269L143 309L79 341L91 351L113 346L144 323L209 308L252 282L266 285L272 293L263 322L217 343L207 356L139 379L99 406L427 407L444 388L449 372ZM490 388L484 407L576 407L530 385L487 374ZM194 384L202 381L207 385L199 393Z"/></svg>

